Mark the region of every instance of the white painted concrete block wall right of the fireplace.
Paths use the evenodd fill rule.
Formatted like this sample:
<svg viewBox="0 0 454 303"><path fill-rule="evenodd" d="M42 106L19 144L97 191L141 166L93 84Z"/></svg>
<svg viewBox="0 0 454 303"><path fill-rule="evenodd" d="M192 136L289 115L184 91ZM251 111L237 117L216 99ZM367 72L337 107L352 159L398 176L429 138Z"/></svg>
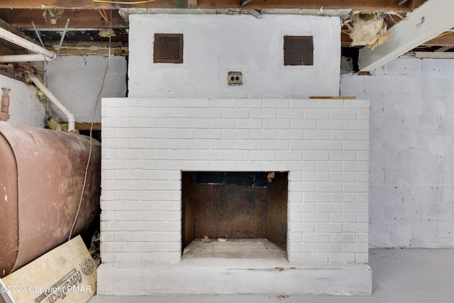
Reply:
<svg viewBox="0 0 454 303"><path fill-rule="evenodd" d="M454 246L454 60L402 57L342 75L370 99L370 244Z"/></svg>

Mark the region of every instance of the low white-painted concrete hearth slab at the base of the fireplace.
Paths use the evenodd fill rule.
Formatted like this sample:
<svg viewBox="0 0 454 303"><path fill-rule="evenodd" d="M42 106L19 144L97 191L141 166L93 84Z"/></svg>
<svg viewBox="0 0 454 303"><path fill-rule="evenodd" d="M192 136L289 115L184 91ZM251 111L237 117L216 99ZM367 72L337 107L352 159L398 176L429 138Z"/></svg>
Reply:
<svg viewBox="0 0 454 303"><path fill-rule="evenodd" d="M98 269L98 294L370 294L369 265L282 259L189 258Z"/></svg>

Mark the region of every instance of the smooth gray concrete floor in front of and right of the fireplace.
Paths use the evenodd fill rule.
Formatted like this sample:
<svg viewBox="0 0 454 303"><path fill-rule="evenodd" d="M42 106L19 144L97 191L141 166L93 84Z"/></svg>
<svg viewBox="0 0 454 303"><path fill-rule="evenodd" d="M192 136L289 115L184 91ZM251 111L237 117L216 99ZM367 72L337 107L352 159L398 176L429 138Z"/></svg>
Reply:
<svg viewBox="0 0 454 303"><path fill-rule="evenodd" d="M89 303L448 303L454 302L453 249L372 249L372 295L153 295L101 296ZM118 283L121 287L121 282Z"/></svg>

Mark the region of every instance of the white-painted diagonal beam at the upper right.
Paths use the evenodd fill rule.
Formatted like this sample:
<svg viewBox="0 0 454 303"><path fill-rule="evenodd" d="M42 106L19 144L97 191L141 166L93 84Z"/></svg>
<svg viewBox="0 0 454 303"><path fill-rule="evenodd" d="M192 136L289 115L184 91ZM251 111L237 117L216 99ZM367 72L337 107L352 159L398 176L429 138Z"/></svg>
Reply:
<svg viewBox="0 0 454 303"><path fill-rule="evenodd" d="M374 70L453 27L454 1L427 1L389 31L386 43L360 50L360 70Z"/></svg>

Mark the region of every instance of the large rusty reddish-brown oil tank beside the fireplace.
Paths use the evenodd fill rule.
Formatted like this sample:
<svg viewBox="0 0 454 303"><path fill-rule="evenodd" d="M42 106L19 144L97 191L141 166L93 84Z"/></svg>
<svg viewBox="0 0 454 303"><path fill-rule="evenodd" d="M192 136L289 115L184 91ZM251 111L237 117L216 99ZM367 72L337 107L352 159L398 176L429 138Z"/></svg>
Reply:
<svg viewBox="0 0 454 303"><path fill-rule="evenodd" d="M92 141L72 236L99 214L101 143ZM87 136L0 121L0 277L67 241L89 158Z"/></svg>

